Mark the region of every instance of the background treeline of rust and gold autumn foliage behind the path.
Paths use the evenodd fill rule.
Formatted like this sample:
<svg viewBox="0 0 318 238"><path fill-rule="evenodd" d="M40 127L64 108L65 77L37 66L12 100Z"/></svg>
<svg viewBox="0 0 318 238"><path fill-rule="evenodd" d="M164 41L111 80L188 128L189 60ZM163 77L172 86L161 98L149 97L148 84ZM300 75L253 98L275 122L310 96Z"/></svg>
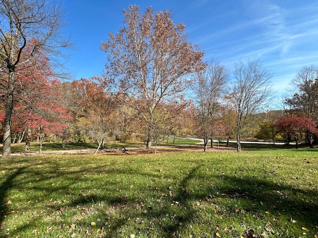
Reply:
<svg viewBox="0 0 318 238"><path fill-rule="evenodd" d="M219 62L212 64L221 65ZM224 66L221 68L224 69ZM246 115L241 125L241 137L268 142L313 142L318 115L318 104L314 102L318 91L314 89L318 90L318 82L317 78L309 77L304 77L306 80L302 83L300 81L304 79L300 75L305 71L312 73L312 69L317 70L304 67L296 75L293 82L297 82L299 90L292 97L285 98L284 108ZM194 78L196 87L191 94L194 95L192 99L180 100L176 105L158 105L151 132L142 109L136 110L128 105L118 92L106 92L101 78L72 82L44 80L36 93L30 94L34 98L28 98L28 104L15 102L12 143L26 142L26 150L30 141L38 141L40 145L43 141L98 142L102 147L107 140L143 140L146 143L149 133L154 143L170 135L204 138L205 146L208 140L236 140L238 114L224 90L230 87L229 81L218 88L216 81L209 81L212 78L211 71L205 71L204 75L200 72ZM204 79L205 83L202 82ZM201 89L197 91L200 85ZM215 93L219 96L212 95L211 88L216 88ZM307 91L304 91L305 88ZM207 92L212 95L211 98ZM225 94L222 95L222 92ZM312 107L306 108L308 105ZM3 111L0 119L3 124Z"/></svg>

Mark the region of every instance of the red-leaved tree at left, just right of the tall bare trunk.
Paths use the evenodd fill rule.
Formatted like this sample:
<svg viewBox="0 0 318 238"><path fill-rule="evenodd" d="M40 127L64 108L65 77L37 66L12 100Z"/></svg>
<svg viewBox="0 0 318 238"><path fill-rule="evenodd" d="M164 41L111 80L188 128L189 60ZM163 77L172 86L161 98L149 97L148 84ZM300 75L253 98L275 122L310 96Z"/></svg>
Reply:
<svg viewBox="0 0 318 238"><path fill-rule="evenodd" d="M25 95L27 102L20 104L19 111L14 110L13 118L16 118L16 121L23 119L21 124L24 127L23 130L27 132L25 151L29 151L32 132L36 133L39 139L39 153L41 153L43 140L47 135L61 137L64 141L64 130L72 117L63 102L59 90L60 85L59 80L43 78L41 87L37 88L36 92Z"/></svg>

